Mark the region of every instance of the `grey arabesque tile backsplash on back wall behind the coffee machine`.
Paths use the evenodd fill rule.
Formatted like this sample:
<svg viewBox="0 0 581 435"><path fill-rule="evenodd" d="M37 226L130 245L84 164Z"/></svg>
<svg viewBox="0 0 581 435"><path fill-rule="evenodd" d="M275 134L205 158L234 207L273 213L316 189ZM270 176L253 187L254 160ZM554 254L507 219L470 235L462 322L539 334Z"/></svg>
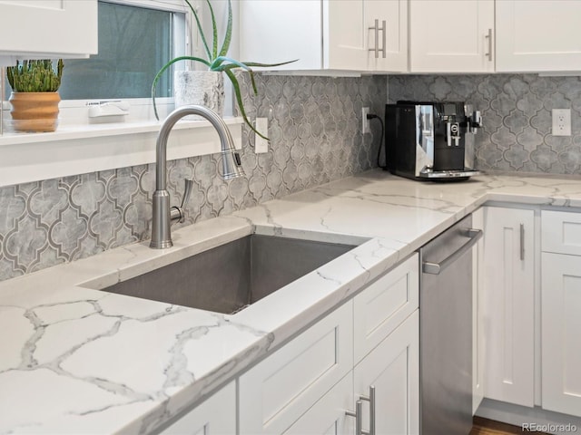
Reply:
<svg viewBox="0 0 581 435"><path fill-rule="evenodd" d="M537 74L399 75L389 102L465 101L482 112L476 167L581 174L581 78ZM571 109L571 136L551 134L551 110Z"/></svg>

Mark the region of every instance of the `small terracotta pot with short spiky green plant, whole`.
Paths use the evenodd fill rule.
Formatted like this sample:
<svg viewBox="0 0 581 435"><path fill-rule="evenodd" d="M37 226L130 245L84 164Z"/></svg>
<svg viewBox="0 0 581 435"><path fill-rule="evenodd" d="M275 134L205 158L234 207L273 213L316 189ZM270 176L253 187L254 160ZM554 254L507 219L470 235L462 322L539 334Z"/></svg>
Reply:
<svg viewBox="0 0 581 435"><path fill-rule="evenodd" d="M6 68L12 88L9 101L15 131L56 130L63 68L63 59L55 66L50 60L32 60Z"/></svg>

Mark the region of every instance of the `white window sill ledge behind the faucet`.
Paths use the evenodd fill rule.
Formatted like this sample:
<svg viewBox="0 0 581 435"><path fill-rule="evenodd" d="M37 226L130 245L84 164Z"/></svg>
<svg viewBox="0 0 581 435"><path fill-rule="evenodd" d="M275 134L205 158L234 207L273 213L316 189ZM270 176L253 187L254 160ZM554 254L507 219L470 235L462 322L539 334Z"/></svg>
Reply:
<svg viewBox="0 0 581 435"><path fill-rule="evenodd" d="M1 111L0 111L1 112ZM241 118L226 118L241 149ZM54 179L155 161L161 121L61 125L51 133L0 136L0 187ZM168 141L167 159L220 152L218 134L208 121L179 121Z"/></svg>

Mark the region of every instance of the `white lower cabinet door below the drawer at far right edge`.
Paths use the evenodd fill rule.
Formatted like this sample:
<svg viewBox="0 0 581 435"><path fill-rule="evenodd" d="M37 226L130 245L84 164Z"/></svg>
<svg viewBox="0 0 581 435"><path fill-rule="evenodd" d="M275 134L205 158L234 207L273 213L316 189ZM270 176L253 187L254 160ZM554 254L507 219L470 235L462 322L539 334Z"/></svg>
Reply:
<svg viewBox="0 0 581 435"><path fill-rule="evenodd" d="M541 262L543 408L581 417L581 256Z"/></svg>

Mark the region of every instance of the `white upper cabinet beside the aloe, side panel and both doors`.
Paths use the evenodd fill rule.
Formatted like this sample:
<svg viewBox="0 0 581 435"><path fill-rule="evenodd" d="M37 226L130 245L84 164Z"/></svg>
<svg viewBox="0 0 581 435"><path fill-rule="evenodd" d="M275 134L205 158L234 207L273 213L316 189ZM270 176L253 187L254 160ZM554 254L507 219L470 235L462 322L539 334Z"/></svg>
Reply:
<svg viewBox="0 0 581 435"><path fill-rule="evenodd" d="M379 29L369 29L376 19ZM271 71L407 69L405 0L241 0L240 35L242 61L298 59Z"/></svg>

